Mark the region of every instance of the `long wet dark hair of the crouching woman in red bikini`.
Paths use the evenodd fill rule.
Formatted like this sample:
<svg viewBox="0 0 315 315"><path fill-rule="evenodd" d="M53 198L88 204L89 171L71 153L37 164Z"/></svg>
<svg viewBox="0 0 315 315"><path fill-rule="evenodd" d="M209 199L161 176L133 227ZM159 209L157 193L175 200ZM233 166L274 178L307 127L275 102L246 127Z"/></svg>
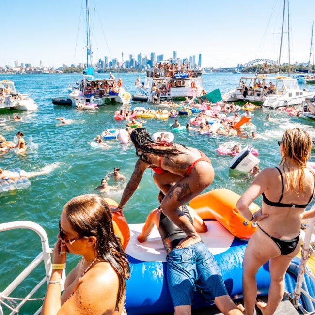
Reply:
<svg viewBox="0 0 315 315"><path fill-rule="evenodd" d="M181 153L177 147L171 142L155 142L151 139L150 134L145 128L136 128L130 134L130 139L136 148L136 155L143 162L152 164L152 161L147 156L148 153L153 153L160 156L178 155ZM165 147L165 149L159 149ZM141 151L141 154L138 153Z"/></svg>

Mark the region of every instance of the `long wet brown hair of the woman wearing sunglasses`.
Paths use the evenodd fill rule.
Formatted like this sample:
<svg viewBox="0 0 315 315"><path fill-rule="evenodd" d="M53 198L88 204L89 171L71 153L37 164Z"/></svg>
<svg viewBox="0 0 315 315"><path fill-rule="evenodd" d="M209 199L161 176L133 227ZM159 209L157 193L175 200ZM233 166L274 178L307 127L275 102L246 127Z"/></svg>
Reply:
<svg viewBox="0 0 315 315"><path fill-rule="evenodd" d="M130 277L130 269L120 239L114 234L109 205L101 196L88 194L69 200L63 211L80 237L96 237L95 254L115 269L119 279L116 300L118 309L121 299L125 296L126 279Z"/></svg>

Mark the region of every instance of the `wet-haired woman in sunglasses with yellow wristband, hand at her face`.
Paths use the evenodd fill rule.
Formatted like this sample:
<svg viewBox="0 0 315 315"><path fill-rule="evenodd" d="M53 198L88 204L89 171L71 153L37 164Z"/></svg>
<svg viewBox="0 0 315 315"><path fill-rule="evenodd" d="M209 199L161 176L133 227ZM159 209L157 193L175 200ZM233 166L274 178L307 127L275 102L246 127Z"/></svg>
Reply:
<svg viewBox="0 0 315 315"><path fill-rule="evenodd" d="M106 201L93 194L71 199L63 207L59 231L42 315L124 314L129 265ZM66 253L82 258L67 275L61 295Z"/></svg>

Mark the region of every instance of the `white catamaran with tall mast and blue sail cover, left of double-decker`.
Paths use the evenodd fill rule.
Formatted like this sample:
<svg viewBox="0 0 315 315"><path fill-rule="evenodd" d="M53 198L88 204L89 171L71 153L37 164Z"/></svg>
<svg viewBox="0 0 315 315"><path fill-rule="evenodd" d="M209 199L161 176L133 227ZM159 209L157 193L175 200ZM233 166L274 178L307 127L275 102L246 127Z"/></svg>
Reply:
<svg viewBox="0 0 315 315"><path fill-rule="evenodd" d="M109 79L94 79L94 67L92 66L92 49L90 36L90 10L89 0L86 0L86 49L87 64L83 71L83 78L76 82L75 86L69 87L69 98L82 108L93 108L109 99L118 103L129 104L130 94L122 86L121 79L116 79L111 73Z"/></svg>

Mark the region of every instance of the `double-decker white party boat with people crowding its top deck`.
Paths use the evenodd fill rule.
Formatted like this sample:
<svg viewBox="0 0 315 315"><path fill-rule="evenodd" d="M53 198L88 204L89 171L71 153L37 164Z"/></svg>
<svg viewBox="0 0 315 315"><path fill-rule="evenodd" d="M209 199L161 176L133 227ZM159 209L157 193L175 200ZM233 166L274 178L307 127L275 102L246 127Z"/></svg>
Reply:
<svg viewBox="0 0 315 315"><path fill-rule="evenodd" d="M142 97L152 99L153 87L160 90L160 98L196 97L203 90L202 70L165 70L158 73L155 69L146 70L144 82L137 80L136 91ZM137 95L133 95L136 100Z"/></svg>

